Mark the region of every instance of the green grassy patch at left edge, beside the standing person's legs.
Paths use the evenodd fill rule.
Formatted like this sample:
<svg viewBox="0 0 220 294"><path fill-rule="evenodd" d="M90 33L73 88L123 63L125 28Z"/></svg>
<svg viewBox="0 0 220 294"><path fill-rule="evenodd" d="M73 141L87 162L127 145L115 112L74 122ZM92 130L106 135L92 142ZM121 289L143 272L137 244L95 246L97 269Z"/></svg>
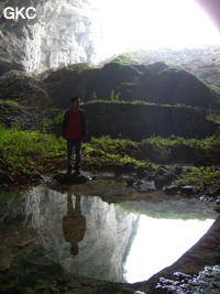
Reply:
<svg viewBox="0 0 220 294"><path fill-rule="evenodd" d="M64 156L65 142L38 131L6 129L0 126L0 173L32 174L50 172Z"/></svg>

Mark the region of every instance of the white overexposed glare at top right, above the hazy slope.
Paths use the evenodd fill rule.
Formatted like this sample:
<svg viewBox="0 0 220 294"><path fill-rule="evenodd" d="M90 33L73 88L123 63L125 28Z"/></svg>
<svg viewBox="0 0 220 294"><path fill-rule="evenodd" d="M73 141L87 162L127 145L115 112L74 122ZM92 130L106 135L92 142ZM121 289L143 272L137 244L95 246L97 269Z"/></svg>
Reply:
<svg viewBox="0 0 220 294"><path fill-rule="evenodd" d="M105 54L127 50L199 47L220 35L194 0L96 0Z"/></svg>

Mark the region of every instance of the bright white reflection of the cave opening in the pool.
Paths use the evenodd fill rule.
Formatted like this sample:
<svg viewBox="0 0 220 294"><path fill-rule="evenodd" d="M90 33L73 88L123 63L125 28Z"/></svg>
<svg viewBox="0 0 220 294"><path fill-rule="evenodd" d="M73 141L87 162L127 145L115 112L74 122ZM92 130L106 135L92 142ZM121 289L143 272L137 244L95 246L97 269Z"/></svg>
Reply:
<svg viewBox="0 0 220 294"><path fill-rule="evenodd" d="M124 265L129 283L145 281L174 263L204 236L213 219L156 219L142 215Z"/></svg>

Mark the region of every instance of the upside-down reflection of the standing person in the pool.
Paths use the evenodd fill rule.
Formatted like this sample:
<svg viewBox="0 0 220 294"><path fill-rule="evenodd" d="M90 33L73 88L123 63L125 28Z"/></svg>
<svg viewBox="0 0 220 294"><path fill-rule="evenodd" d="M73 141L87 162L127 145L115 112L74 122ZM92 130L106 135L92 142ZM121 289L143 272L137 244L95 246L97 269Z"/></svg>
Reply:
<svg viewBox="0 0 220 294"><path fill-rule="evenodd" d="M72 193L67 194L67 214L63 217L63 232L67 242L70 242L70 253L78 254L78 242L84 239L86 232L86 218L81 215L80 196L76 195L75 208Z"/></svg>

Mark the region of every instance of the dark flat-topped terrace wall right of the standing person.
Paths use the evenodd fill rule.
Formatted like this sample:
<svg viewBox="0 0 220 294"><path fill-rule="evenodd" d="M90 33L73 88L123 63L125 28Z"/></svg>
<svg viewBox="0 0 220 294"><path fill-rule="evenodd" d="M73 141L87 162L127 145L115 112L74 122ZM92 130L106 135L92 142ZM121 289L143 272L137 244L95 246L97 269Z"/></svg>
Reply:
<svg viewBox="0 0 220 294"><path fill-rule="evenodd" d="M151 135L206 138L217 124L206 120L206 111L191 107L96 102L84 106L90 135L143 140Z"/></svg>

